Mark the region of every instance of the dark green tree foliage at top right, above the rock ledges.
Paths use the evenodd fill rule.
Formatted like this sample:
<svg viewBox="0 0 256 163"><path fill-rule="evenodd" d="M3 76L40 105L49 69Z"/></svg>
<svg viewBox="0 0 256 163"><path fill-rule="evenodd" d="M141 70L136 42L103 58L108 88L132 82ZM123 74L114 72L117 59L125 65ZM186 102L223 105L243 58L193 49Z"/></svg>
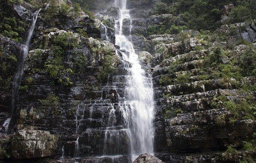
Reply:
<svg viewBox="0 0 256 163"><path fill-rule="evenodd" d="M173 0L165 3L157 2L154 3L151 14L179 16L179 21L172 22L176 22L175 25L177 26L185 25L189 29L198 31L200 29L215 30L221 25L222 9L228 4L234 4L228 22L247 22L250 26L255 25L253 20L256 18L256 3L254 0Z"/></svg>

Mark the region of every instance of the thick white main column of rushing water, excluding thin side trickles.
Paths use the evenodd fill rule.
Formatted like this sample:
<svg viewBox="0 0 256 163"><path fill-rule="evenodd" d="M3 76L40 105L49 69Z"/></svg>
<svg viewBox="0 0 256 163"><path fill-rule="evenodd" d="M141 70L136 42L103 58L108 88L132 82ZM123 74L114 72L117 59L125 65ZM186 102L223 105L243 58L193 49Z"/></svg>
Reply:
<svg viewBox="0 0 256 163"><path fill-rule="evenodd" d="M122 52L122 56L124 62L132 65L126 69L126 82L129 84L124 95L123 117L130 117L126 119L125 125L130 129L131 154L134 160L139 154L153 154L153 84L151 75L142 69L133 44L123 35L123 19L131 18L130 10L126 9L126 0L115 0L114 4L120 9L119 19L115 24L116 44L121 50L128 52L129 55Z"/></svg>

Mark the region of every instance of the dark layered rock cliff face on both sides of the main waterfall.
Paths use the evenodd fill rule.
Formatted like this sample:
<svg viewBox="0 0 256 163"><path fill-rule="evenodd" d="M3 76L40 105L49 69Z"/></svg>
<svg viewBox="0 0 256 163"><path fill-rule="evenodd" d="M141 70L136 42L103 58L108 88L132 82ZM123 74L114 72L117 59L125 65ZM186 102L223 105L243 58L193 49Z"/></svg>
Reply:
<svg viewBox="0 0 256 163"><path fill-rule="evenodd" d="M132 40L142 68L152 74L155 156L166 163L255 158L255 151L224 152L231 145L240 150L245 141L254 139L252 103L256 94L241 88L253 85L255 78L236 78L236 66L226 70L233 76L217 68L228 67L247 45L204 40L197 31L183 31L183 36L152 34L153 26L167 20L172 24L173 20L171 14L151 15L155 3L157 0L128 0L132 18L123 21L123 34ZM25 9L13 8L28 21L22 14ZM122 101L118 101L127 85L125 66L131 65L121 62L120 49L114 45L117 9L101 11L95 19L83 12L79 16L74 13L74 18L60 14L51 22L47 19L49 9L42 9L37 20L9 135L0 135L0 158L3 162L132 162L130 140L122 127ZM237 35L231 37L237 39ZM215 59L217 46L222 55ZM21 43L0 37L0 77L5 81L0 83L1 124L9 118L12 76L21 47ZM213 59L215 65L207 59ZM114 132L108 132L109 128ZM108 157L97 157L102 155Z"/></svg>

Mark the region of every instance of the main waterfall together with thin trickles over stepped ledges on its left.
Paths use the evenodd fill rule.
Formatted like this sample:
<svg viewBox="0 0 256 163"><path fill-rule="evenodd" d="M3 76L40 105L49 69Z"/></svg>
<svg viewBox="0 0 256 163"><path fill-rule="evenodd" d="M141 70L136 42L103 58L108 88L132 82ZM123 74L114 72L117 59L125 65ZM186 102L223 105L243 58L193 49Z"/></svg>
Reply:
<svg viewBox="0 0 256 163"><path fill-rule="evenodd" d="M120 47L116 55L122 63L118 73L108 77L100 99L77 105L74 148L70 148L71 141L64 145L66 157L94 155L98 159L111 158L113 163L130 163L139 154L153 154L151 74L142 69L133 44L122 33L123 19L131 18L126 0L115 0L115 6L119 7L115 44ZM105 29L103 38L107 40Z"/></svg>

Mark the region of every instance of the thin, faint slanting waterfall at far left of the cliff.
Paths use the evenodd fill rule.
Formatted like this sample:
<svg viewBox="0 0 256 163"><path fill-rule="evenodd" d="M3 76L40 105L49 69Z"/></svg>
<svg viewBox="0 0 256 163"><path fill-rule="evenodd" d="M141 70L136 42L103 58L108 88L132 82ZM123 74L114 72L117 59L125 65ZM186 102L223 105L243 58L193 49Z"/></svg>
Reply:
<svg viewBox="0 0 256 163"><path fill-rule="evenodd" d="M15 108L16 94L19 90L19 85L22 82L24 62L25 62L25 59L28 56L29 44L30 44L30 41L31 41L32 34L34 32L34 28L35 28L35 25L36 25L36 22L37 22L37 17L38 17L38 14L39 14L40 10L41 9L37 10L33 14L33 22L31 24L31 27L30 27L29 31L28 31L28 37L27 37L26 43L25 43L25 45L22 45L22 53L21 53L22 56L19 58L18 71L14 75L14 79L13 79L13 82L12 82L12 102L11 102L11 107L10 107L10 111L9 111L9 114L10 114L11 117L12 117L12 114L13 114L13 111L14 111L14 108Z"/></svg>

